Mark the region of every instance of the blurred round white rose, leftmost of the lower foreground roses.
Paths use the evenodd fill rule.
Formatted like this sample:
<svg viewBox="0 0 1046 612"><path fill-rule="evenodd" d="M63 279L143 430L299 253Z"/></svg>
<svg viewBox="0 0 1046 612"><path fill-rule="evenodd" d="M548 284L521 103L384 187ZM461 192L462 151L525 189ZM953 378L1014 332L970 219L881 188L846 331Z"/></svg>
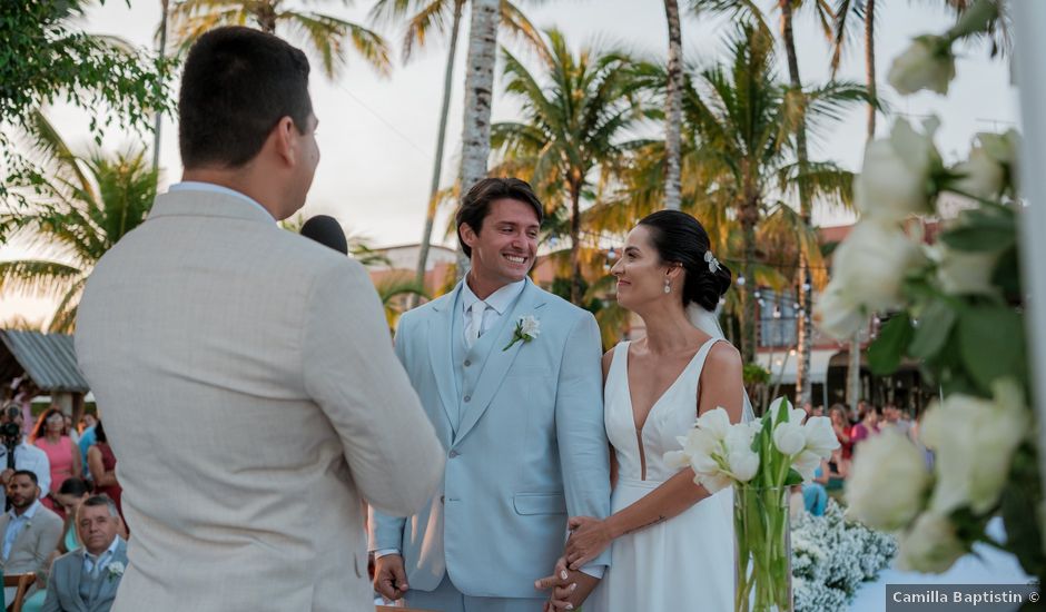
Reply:
<svg viewBox="0 0 1046 612"><path fill-rule="evenodd" d="M848 513L866 525L896 531L922 509L930 483L922 453L894 430L861 443L846 484Z"/></svg>

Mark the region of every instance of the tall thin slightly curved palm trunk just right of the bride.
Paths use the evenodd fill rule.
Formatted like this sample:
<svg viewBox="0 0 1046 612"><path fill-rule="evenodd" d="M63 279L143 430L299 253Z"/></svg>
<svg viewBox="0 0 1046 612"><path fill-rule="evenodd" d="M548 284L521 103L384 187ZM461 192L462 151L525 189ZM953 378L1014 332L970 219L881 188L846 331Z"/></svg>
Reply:
<svg viewBox="0 0 1046 612"><path fill-rule="evenodd" d="M784 38L784 51L788 56L788 76L791 81L792 96L802 96L802 80L799 78L799 58L796 55L796 39L792 36L792 0L780 0L781 22ZM799 174L807 171L807 121L806 109L801 110L799 129L796 134L796 157L799 161ZM799 182L799 216L807 227L812 217L812 203L805 182ZM812 287L810 283L810 266L807 254L799 251L799 313L797 316L799 359L796 363L796 404L801 406L810 401L810 352L812 349L812 329L810 328L810 309L812 308Z"/></svg>

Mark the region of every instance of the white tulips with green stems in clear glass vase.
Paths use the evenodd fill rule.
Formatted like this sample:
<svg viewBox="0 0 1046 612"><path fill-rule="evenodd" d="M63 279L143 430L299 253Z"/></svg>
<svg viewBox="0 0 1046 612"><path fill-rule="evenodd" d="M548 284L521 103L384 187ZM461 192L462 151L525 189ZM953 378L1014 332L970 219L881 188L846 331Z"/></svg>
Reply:
<svg viewBox="0 0 1046 612"><path fill-rule="evenodd" d="M731 424L716 408L679 438L681 451L665 456L693 468L694 482L711 494L733 486L739 612L791 610L788 487L811 480L839 447L828 417L805 417L783 398L750 423Z"/></svg>

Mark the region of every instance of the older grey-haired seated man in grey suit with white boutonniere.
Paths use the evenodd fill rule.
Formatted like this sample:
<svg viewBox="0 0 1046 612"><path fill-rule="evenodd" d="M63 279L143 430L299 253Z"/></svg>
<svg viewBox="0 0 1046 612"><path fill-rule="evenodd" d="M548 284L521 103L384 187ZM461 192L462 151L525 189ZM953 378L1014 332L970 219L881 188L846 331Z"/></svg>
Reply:
<svg viewBox="0 0 1046 612"><path fill-rule="evenodd" d="M77 510L83 546L51 566L43 612L108 612L127 569L127 543L119 536L120 515L105 495L88 497Z"/></svg>

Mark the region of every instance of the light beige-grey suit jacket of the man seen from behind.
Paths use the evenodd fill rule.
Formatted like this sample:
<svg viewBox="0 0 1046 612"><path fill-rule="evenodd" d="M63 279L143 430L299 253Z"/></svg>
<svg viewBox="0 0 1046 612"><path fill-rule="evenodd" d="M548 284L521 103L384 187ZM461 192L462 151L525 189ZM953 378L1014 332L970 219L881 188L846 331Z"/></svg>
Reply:
<svg viewBox="0 0 1046 612"><path fill-rule="evenodd" d="M161 195L76 344L134 533L114 611L373 612L363 502L417 511L444 458L363 266L236 196Z"/></svg>

